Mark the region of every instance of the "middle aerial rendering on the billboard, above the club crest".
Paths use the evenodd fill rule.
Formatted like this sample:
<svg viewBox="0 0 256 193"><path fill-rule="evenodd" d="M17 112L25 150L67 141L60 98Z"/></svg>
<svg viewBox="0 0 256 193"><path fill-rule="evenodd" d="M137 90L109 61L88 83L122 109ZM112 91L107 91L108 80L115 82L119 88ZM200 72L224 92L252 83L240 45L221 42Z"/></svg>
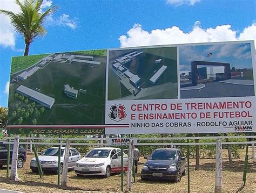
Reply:
<svg viewBox="0 0 256 193"><path fill-rule="evenodd" d="M109 101L178 98L177 48L109 52Z"/></svg>

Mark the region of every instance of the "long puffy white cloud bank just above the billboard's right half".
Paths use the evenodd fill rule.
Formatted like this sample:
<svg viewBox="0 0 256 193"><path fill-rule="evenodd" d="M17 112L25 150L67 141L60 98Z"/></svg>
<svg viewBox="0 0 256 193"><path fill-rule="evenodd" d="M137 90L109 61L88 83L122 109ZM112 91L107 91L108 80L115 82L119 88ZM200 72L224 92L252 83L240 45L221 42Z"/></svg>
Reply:
<svg viewBox="0 0 256 193"><path fill-rule="evenodd" d="M156 29L151 32L143 30L142 25L134 24L126 35L120 35L121 47L188 44L199 42L254 40L256 42L256 24L244 28L241 33L232 30L231 25L219 25L215 28L202 28L197 21L190 32L185 33L177 26Z"/></svg>

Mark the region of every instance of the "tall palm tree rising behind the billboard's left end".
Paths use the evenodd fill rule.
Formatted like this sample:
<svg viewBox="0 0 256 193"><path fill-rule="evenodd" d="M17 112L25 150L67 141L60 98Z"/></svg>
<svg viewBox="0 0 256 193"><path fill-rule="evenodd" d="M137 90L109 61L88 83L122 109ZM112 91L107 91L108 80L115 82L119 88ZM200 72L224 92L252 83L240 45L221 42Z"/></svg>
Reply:
<svg viewBox="0 0 256 193"><path fill-rule="evenodd" d="M25 0L23 3L16 0L16 4L21 9L17 14L0 9L0 13L9 16L14 30L23 35L25 41L24 55L29 55L29 46L37 35L43 36L46 34L46 30L43 27L45 18L58 10L58 6L53 5L45 12L42 12L42 3L42 0Z"/></svg>

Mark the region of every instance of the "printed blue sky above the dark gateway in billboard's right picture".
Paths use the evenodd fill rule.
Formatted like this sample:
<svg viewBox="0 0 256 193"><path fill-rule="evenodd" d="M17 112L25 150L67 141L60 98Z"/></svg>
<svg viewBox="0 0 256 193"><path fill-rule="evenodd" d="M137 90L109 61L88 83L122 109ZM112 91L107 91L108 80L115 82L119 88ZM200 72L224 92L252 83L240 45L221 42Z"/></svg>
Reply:
<svg viewBox="0 0 256 193"><path fill-rule="evenodd" d="M250 43L184 45L179 47L179 59L180 71L191 71L191 62L195 60L230 63L230 68L235 69L252 68Z"/></svg>

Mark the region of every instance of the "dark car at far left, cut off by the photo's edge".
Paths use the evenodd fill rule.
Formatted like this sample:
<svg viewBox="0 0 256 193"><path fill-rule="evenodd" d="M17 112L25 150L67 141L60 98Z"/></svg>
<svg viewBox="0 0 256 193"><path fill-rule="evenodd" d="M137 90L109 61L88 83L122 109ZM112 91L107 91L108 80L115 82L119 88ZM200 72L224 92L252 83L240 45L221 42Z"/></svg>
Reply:
<svg viewBox="0 0 256 193"><path fill-rule="evenodd" d="M11 144L10 165L11 165L12 149L13 148L14 148L14 146ZM7 165L7 156L8 156L8 144L4 144L3 141L0 141L0 167L2 167L3 165ZM25 161L26 161L26 151L22 145L19 145L17 167L22 168L24 166Z"/></svg>

